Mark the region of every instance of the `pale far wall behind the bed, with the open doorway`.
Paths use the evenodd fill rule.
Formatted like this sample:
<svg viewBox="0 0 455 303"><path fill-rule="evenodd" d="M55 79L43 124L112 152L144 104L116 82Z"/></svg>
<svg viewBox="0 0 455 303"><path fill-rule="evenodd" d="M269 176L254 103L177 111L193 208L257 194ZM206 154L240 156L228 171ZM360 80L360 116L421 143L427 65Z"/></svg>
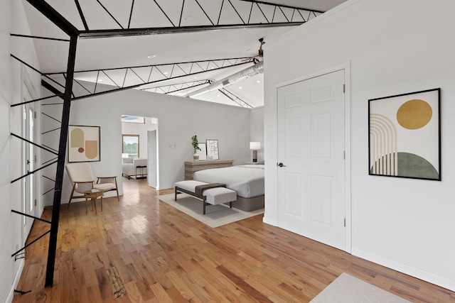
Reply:
<svg viewBox="0 0 455 303"><path fill-rule="evenodd" d="M61 116L58 112L61 106L57 109L50 107L43 106L43 112L53 111L56 117ZM91 162L94 174L117 175L121 192L122 123L119 117L122 114L141 114L156 117L159 121L159 189L173 188L174 182L184 180L183 162L193 160L193 135L197 135L201 142L218 139L220 159L232 159L234 165L250 160L250 109L134 89L73 101L70 124L101 127L101 161ZM53 123L50 119L46 121ZM43 129L51 128L43 125ZM43 137L43 141L54 141L48 143L50 145L58 143L58 133ZM170 148L170 145L176 148ZM46 173L55 174L54 166L50 166ZM65 173L62 203L68 202L70 188ZM46 194L45 204L51 204L52 198L53 192Z"/></svg>

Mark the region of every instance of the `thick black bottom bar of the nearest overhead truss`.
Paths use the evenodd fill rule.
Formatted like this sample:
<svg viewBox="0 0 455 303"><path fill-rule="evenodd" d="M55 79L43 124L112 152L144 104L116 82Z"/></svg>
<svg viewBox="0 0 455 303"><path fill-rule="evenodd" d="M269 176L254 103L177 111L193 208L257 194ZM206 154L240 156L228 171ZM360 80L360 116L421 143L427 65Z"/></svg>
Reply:
<svg viewBox="0 0 455 303"><path fill-rule="evenodd" d="M80 31L81 39L88 38L109 38L109 37L129 37L134 35L164 35L172 33L194 33L198 31L222 31L245 28L271 28L283 26L300 26L299 22L280 22L280 23L252 23L252 24L226 24L222 26L176 26L161 28L122 28L107 30Z"/></svg>

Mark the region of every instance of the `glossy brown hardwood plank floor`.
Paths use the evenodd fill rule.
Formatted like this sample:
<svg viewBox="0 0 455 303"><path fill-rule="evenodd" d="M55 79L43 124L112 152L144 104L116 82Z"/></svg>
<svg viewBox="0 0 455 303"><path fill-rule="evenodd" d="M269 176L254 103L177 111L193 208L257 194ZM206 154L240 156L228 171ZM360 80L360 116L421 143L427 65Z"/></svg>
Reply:
<svg viewBox="0 0 455 303"><path fill-rule="evenodd" d="M44 287L45 236L28 249L17 287L31 292L14 302L309 302L347 272L411 302L455 303L454 292L263 224L262 215L210 228L159 202L146 180L123 187L120 202L104 199L96 215L84 202L62 206L53 287ZM49 228L36 221L31 241Z"/></svg>

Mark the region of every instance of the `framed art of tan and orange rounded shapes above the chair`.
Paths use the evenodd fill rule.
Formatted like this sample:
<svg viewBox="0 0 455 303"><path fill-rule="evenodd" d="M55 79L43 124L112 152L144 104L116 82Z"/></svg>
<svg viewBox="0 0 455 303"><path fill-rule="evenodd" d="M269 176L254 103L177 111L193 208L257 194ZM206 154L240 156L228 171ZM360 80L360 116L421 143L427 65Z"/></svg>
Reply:
<svg viewBox="0 0 455 303"><path fill-rule="evenodd" d="M100 160L100 126L68 126L68 162Z"/></svg>

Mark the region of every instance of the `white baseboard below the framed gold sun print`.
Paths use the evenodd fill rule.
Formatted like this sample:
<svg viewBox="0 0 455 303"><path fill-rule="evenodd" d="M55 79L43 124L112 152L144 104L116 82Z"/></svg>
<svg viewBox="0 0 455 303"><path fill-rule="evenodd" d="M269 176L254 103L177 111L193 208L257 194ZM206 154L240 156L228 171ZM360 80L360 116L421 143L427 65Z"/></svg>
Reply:
<svg viewBox="0 0 455 303"><path fill-rule="evenodd" d="M388 258L381 257L380 255L375 255L373 253L368 253L364 250L360 250L358 248L352 248L352 254L363 258L365 260L369 260L371 262L377 263L379 265L385 266L386 268L391 268L392 270L397 270L399 272L405 273L406 275L410 275L412 277L417 277L420 280L427 281L434 285L438 285L440 287L444 287L447 290L451 290L455 292L455 280L450 280L446 277L441 277L439 275L435 275L432 272L427 272L425 270L421 270L419 268L414 268L410 265L406 265L395 260L390 260Z"/></svg>

